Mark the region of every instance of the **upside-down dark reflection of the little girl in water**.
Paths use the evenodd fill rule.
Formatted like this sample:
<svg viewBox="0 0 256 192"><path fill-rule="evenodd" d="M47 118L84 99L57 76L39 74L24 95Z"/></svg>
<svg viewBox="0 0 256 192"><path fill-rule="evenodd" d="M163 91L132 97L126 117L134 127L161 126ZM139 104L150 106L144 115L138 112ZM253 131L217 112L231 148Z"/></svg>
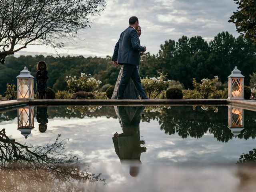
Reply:
<svg viewBox="0 0 256 192"><path fill-rule="evenodd" d="M47 106L36 107L36 120L39 123L39 131L46 132L48 123Z"/></svg>

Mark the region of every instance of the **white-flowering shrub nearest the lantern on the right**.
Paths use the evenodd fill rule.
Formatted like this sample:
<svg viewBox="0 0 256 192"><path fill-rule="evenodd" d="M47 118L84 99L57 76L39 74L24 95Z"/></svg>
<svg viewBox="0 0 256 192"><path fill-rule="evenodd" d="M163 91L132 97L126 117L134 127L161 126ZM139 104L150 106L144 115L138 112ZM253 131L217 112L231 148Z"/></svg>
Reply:
<svg viewBox="0 0 256 192"><path fill-rule="evenodd" d="M218 81L218 76L214 76L213 79L202 79L202 83L197 83L196 79L193 78L193 86L196 91L203 96L204 99L208 99L210 94L214 94L216 92L216 82Z"/></svg>

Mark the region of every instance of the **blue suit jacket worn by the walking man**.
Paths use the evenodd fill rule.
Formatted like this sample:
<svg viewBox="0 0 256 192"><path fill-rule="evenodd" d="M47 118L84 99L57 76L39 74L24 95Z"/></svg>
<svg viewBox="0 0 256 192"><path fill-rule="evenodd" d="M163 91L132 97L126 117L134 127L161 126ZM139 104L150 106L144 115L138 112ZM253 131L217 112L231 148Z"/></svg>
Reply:
<svg viewBox="0 0 256 192"><path fill-rule="evenodd" d="M117 61L118 64L140 64L140 52L144 51L144 47L139 44L139 37L137 31L129 26L124 30L116 46L114 48L114 54L112 61Z"/></svg>

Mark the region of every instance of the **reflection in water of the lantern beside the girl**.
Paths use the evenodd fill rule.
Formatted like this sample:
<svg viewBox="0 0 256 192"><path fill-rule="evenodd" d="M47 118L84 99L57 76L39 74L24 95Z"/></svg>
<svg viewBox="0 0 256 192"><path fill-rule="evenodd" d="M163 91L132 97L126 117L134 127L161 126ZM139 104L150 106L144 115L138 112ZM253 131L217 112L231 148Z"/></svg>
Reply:
<svg viewBox="0 0 256 192"><path fill-rule="evenodd" d="M18 130L27 138L32 129L34 129L34 107L19 108Z"/></svg>

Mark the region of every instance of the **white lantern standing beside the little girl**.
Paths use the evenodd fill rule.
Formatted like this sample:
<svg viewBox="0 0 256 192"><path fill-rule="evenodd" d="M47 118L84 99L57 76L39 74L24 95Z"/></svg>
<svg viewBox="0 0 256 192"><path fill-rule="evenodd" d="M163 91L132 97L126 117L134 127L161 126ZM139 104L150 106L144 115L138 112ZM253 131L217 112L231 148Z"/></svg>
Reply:
<svg viewBox="0 0 256 192"><path fill-rule="evenodd" d="M34 100L34 77L24 67L17 77L17 100Z"/></svg>

